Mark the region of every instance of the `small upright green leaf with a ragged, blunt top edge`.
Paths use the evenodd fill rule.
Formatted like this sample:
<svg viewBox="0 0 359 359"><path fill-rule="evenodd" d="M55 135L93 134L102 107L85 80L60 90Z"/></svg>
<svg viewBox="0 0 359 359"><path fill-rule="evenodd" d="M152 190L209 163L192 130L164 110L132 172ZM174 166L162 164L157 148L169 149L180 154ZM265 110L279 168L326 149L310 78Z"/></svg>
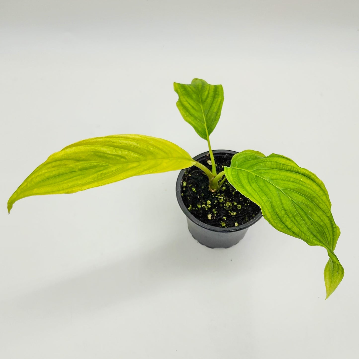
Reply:
<svg viewBox="0 0 359 359"><path fill-rule="evenodd" d="M190 85L173 84L178 94L176 103L182 117L203 139L216 127L222 111L223 87L210 85L201 79L193 79Z"/></svg>

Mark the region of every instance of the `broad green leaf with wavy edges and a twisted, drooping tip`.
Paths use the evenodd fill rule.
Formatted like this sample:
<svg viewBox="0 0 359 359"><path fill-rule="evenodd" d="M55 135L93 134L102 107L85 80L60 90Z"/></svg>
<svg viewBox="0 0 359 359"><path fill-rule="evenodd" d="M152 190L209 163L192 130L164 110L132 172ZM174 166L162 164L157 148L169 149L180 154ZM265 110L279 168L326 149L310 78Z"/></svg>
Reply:
<svg viewBox="0 0 359 359"><path fill-rule="evenodd" d="M340 235L324 183L293 160L247 150L224 168L227 180L261 207L264 218L280 232L322 246L330 257L324 271L327 298L344 276L334 254Z"/></svg>

